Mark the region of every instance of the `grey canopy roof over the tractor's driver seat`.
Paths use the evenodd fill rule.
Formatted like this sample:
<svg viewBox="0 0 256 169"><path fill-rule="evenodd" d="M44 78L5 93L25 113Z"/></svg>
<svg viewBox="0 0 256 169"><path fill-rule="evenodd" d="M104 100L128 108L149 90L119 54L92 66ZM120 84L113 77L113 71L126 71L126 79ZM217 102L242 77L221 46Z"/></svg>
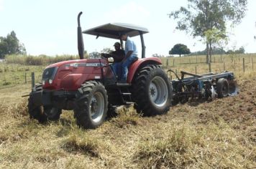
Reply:
<svg viewBox="0 0 256 169"><path fill-rule="evenodd" d="M96 37L108 37L111 39L120 39L121 34L127 34L129 37L135 37L140 34L148 33L148 29L134 24L109 23L97 26L83 31L84 34L95 35Z"/></svg>

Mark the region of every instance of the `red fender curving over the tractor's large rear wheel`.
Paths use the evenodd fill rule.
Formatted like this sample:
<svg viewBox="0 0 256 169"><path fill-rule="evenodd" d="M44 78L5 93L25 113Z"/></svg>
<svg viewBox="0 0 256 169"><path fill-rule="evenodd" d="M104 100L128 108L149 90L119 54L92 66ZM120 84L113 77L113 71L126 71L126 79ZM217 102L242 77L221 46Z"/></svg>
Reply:
<svg viewBox="0 0 256 169"><path fill-rule="evenodd" d="M127 82L131 83L132 79L134 78L134 74L137 72L137 70L148 64L159 65L159 64L162 64L162 61L160 58L157 58L157 57L147 57L147 58L138 59L137 61L133 62L132 65L129 67Z"/></svg>

